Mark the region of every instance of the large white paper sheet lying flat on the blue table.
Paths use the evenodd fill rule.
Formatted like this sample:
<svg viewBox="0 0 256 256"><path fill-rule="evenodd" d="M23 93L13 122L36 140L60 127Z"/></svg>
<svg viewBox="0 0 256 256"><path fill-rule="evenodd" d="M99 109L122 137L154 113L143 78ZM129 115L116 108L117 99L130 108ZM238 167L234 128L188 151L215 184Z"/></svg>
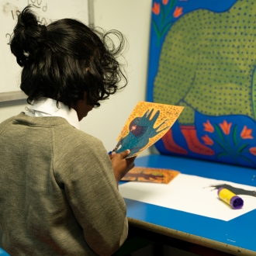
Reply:
<svg viewBox="0 0 256 256"><path fill-rule="evenodd" d="M119 192L126 199L226 221L256 209L256 197L251 195L239 195L244 200L242 209L233 209L227 205L219 199L217 189L209 187L222 184L237 189L256 190L256 187L249 185L179 174L169 184L127 182L119 185Z"/></svg>

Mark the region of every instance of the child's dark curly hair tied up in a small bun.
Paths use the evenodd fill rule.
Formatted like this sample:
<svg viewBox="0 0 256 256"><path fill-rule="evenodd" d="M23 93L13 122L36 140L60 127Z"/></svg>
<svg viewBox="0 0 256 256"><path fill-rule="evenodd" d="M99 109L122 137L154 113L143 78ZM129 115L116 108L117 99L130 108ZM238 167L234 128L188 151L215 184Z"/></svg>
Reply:
<svg viewBox="0 0 256 256"><path fill-rule="evenodd" d="M119 39L118 47L109 34ZM20 88L29 103L47 97L72 107L86 95L89 105L99 106L99 101L116 92L123 78L126 85L116 61L123 43L119 31L102 33L75 19L40 25L26 7L11 40L12 54L23 67Z"/></svg>

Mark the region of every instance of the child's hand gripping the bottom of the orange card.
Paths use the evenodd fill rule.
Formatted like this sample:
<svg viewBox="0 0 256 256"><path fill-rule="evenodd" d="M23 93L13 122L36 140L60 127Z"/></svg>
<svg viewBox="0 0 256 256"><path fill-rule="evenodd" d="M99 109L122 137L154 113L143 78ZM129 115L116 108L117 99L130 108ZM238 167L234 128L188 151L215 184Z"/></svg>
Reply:
<svg viewBox="0 0 256 256"><path fill-rule="evenodd" d="M134 160L136 157L130 157L126 159L125 157L128 154L130 154L130 150L124 150L119 154L112 152L112 154L109 155L110 160L112 161L112 168L114 170L116 184L118 184L119 180L134 167Z"/></svg>

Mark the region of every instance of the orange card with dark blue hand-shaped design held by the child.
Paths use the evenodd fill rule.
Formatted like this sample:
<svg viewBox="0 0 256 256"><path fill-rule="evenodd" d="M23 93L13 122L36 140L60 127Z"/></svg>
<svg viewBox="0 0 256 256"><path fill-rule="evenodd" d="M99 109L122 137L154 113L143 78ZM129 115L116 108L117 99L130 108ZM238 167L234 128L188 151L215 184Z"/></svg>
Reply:
<svg viewBox="0 0 256 256"><path fill-rule="evenodd" d="M183 109L183 106L138 102L117 138L116 153L129 149L127 157L137 156L164 136Z"/></svg>

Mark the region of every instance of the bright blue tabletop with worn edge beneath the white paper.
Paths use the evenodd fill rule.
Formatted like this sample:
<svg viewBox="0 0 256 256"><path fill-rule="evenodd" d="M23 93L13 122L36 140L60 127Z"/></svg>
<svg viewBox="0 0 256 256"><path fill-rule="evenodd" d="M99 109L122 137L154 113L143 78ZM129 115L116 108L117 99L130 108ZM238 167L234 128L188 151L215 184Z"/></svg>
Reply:
<svg viewBox="0 0 256 256"><path fill-rule="evenodd" d="M256 170L252 168L164 155L137 158L136 165L256 186ZM125 202L130 225L134 227L229 254L256 256L256 210L223 221L131 199Z"/></svg>

